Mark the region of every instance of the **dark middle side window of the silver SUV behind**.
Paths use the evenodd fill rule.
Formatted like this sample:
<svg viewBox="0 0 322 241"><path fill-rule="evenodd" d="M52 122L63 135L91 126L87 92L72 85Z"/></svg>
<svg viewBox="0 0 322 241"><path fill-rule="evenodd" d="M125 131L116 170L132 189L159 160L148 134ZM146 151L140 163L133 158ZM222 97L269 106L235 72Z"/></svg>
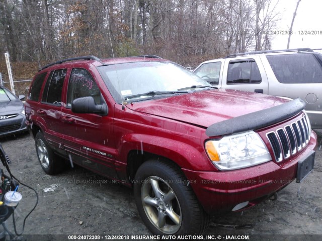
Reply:
<svg viewBox="0 0 322 241"><path fill-rule="evenodd" d="M229 62L227 84L257 84L261 82L261 73L255 60L233 60Z"/></svg>

